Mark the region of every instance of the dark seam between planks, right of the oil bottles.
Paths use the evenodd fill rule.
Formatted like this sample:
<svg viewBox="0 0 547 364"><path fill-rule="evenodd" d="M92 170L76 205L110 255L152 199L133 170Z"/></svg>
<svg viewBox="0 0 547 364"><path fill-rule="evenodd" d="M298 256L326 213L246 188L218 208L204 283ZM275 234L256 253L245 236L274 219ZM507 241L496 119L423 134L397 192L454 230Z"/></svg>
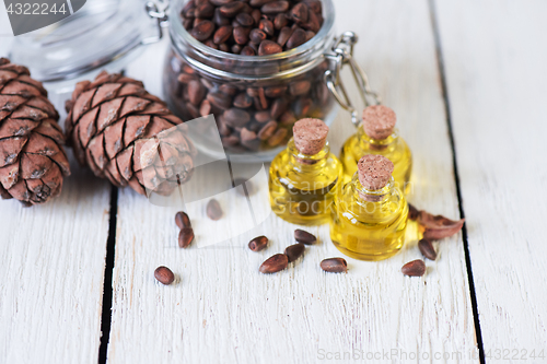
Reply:
<svg viewBox="0 0 547 364"><path fill-rule="evenodd" d="M458 210L459 210L459 216L461 219L465 219L465 212L464 212L464 200L462 197L462 189L459 187L459 173L457 169L457 157L456 157L456 146L454 142L454 132L452 129L452 111L451 111L451 106L450 106L450 98L449 98L449 89L446 85L446 72L444 69L444 58L443 58L443 50L441 46L441 36L439 32L439 24L437 22L437 11L435 11L435 4L434 0L428 0L429 3L429 11L430 11L430 19L431 19L431 27L433 31L433 38L434 38L434 44L435 44L435 55L437 55L437 64L439 68L439 75L441 79L441 92L443 96L443 104L444 104L444 114L446 115L446 124L449 127L449 140L452 149L452 164L453 164L453 169L454 169L454 178L456 183L456 195L457 195L457 201L458 201ZM469 254L469 243L467 238L467 226L464 223L464 226L462 227L462 240L464 245L464 253L465 253L465 266L467 269L467 280L469 283L469 295L472 300L472 307L473 307L473 318L475 321L475 334L477 338L477 347L479 350L479 361L481 364L485 364L485 350L482 345L482 333L480 330L480 318L478 314L478 304L477 304L477 294L475 290L475 280L473 278L473 268L472 268L472 259L470 259L470 254Z"/></svg>

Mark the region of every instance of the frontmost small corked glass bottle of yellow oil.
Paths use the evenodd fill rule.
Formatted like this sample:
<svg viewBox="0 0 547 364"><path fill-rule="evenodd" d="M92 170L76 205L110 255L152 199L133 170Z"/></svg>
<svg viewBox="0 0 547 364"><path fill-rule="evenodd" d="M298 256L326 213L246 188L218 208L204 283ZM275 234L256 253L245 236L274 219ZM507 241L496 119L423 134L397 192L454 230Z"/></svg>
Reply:
<svg viewBox="0 0 547 364"><path fill-rule="evenodd" d="M393 169L386 157L368 154L335 198L330 238L345 255L382 260L403 247L408 204L394 184Z"/></svg>

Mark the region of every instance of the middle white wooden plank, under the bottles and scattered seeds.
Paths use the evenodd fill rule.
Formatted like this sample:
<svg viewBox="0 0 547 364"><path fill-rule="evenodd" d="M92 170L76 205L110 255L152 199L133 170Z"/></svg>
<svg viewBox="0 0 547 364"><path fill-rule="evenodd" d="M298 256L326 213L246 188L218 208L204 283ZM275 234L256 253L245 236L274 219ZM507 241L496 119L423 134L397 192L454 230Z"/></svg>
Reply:
<svg viewBox="0 0 547 364"><path fill-rule="evenodd" d="M400 132L414 150L410 200L457 218L427 1L340 1L337 7L339 31L360 35L358 60L398 113ZM153 93L160 92L159 52L152 48L140 67L128 70ZM337 151L354 129L340 114L331 131ZM348 258L348 274L325 274L319 261L340 254L328 226L311 227L321 244L309 247L304 259L288 270L266 277L258 266L293 243L296 225L269 216L232 239L232 247L183 250L176 244L175 211L151 206L127 189L120 193L110 363L307 363L336 353L350 362L344 355L354 350L363 351L358 352L363 359L387 352L380 360L384 362L399 361L403 353L421 359L462 355L462 363L477 362L468 356L476 340L461 236L439 245L440 258L427 262L424 279L400 273L404 262L420 257L416 240L386 261ZM190 218L197 224L206 221L203 213ZM271 239L268 249L248 250L248 238L263 234ZM160 265L178 274L176 284L154 281Z"/></svg>

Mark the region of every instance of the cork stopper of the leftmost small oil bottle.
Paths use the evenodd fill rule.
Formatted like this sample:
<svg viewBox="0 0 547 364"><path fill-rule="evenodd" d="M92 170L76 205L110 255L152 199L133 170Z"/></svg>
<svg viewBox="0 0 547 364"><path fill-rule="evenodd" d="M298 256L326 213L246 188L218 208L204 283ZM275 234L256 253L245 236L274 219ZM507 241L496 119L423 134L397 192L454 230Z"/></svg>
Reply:
<svg viewBox="0 0 547 364"><path fill-rule="evenodd" d="M302 119L294 124L292 132L299 152L314 155L325 146L328 127L319 119Z"/></svg>

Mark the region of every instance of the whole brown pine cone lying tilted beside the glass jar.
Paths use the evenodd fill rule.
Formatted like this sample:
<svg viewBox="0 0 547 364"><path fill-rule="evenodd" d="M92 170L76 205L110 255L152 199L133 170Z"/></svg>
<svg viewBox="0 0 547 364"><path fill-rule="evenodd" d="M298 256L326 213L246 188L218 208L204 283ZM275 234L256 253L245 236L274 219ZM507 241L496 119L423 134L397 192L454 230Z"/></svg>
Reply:
<svg viewBox="0 0 547 364"><path fill-rule="evenodd" d="M67 102L67 139L80 164L115 186L170 195L197 154L186 128L140 81L102 72Z"/></svg>

